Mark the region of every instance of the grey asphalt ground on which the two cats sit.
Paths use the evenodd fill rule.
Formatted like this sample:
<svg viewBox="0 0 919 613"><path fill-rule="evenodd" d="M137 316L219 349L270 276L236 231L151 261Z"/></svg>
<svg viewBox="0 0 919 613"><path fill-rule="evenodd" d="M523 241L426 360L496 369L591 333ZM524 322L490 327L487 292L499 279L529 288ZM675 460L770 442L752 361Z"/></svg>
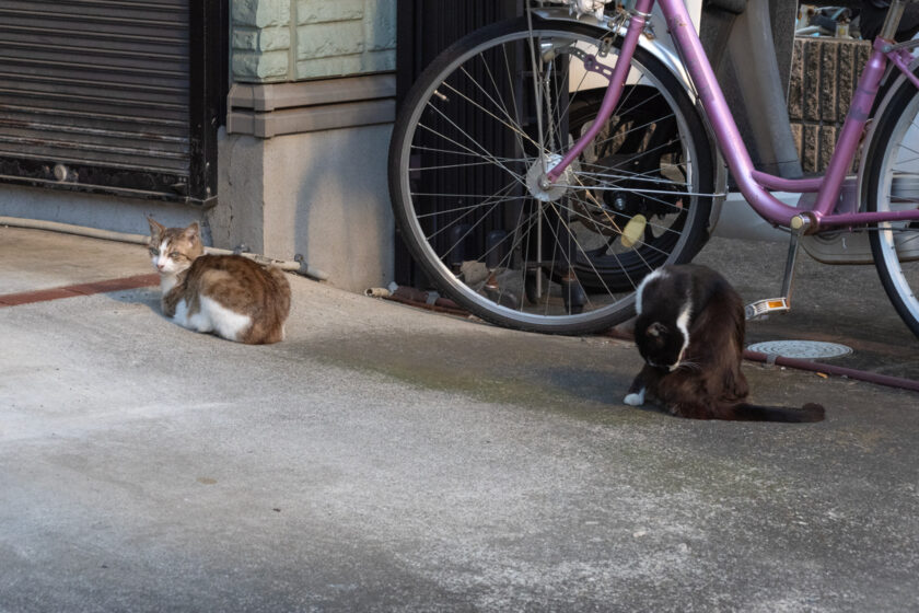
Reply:
<svg viewBox="0 0 919 613"><path fill-rule="evenodd" d="M769 248L702 261L766 291ZM106 266L149 271L0 229L0 293ZM0 611L919 611L915 393L749 365L756 401L826 421L682 420L621 403L628 343L291 284L269 347L171 324L155 288L0 309ZM821 327L810 291L751 336L915 372L883 298Z"/></svg>

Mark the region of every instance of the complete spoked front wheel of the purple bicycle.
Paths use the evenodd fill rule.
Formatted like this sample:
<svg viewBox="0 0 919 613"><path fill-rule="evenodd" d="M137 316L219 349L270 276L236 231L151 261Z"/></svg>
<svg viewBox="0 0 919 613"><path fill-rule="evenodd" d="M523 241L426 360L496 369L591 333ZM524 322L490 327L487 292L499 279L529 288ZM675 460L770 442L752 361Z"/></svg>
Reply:
<svg viewBox="0 0 919 613"><path fill-rule="evenodd" d="M517 329L595 332L630 317L650 271L707 239L712 152L670 70L637 49L616 111L594 122L621 38L525 19L488 26L419 78L394 128L389 188L427 276L476 315Z"/></svg>

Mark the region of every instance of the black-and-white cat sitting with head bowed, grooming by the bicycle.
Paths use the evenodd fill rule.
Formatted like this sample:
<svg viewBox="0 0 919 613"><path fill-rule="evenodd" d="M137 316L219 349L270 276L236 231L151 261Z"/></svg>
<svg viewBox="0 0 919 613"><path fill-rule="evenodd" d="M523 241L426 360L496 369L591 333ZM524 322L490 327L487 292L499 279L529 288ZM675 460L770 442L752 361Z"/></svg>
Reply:
<svg viewBox="0 0 919 613"><path fill-rule="evenodd" d="M758 406L741 371L744 304L718 273L695 264L648 275L636 296L635 342L644 367L624 402L656 400L672 415L691 419L821 421L824 407Z"/></svg>

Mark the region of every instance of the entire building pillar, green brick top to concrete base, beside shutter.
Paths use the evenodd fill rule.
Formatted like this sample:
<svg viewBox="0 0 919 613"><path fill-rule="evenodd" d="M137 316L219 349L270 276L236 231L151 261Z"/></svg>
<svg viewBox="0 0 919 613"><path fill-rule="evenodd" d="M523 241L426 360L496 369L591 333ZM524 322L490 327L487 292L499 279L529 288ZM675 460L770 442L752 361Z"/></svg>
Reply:
<svg viewBox="0 0 919 613"><path fill-rule="evenodd" d="M301 254L353 291L385 285L396 0L232 0L231 16L214 244Z"/></svg>

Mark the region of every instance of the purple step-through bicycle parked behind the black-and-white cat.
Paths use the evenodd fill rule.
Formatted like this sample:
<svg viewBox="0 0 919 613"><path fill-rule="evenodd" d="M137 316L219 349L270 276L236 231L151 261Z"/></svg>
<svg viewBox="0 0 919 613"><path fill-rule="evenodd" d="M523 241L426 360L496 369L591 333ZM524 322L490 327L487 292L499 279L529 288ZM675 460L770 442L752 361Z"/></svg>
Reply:
<svg viewBox="0 0 919 613"><path fill-rule="evenodd" d="M892 42L904 0L892 2L826 173L796 180L753 167L683 0L658 0L676 54L654 42L654 3L590 15L540 2L424 70L396 120L389 189L426 275L499 325L616 325L650 271L702 247L726 164L754 210L790 234L781 296L748 316L790 309L802 238L869 232L884 288L919 336L919 42ZM872 115L888 65L898 74ZM863 136L860 197L840 197ZM792 207L773 190L813 201Z"/></svg>

